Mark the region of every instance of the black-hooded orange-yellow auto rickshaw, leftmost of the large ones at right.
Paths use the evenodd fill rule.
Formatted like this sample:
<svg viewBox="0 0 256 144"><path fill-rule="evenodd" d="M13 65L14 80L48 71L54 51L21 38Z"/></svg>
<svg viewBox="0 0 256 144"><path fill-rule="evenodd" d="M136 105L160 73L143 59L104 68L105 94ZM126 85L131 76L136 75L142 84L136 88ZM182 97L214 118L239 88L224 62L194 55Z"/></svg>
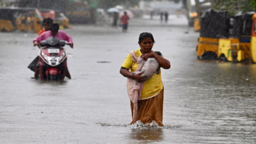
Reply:
<svg viewBox="0 0 256 144"><path fill-rule="evenodd" d="M217 60L220 38L228 38L228 12L207 10L202 14L197 58Z"/></svg>

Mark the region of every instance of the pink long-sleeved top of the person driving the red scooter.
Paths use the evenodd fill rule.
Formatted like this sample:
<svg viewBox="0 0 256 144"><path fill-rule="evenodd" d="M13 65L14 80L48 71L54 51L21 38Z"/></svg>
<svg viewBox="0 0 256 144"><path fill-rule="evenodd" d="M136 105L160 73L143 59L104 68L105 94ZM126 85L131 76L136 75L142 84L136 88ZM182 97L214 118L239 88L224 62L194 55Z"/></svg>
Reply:
<svg viewBox="0 0 256 144"><path fill-rule="evenodd" d="M36 41L40 43L42 40L46 40L47 38L53 37L51 35L51 31L45 31L41 35L37 36L34 40L33 43ZM59 38L60 40L66 40L69 44L73 44L72 37L65 33L64 31L59 30L57 35L55 36L56 38ZM73 47L72 47L73 48Z"/></svg>

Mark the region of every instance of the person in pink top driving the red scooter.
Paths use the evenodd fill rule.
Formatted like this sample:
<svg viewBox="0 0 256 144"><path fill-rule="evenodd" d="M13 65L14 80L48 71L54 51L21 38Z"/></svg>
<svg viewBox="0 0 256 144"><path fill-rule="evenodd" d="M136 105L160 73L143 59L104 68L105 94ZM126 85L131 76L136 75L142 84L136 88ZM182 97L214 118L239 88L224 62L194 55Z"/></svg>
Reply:
<svg viewBox="0 0 256 144"><path fill-rule="evenodd" d="M42 40L46 40L49 37L56 37L59 38L60 40L66 40L68 42L68 44L70 44L70 47L73 48L74 44L73 44L73 40L72 37L69 36L67 33L65 33L64 31L59 30L60 26L59 24L53 23L50 26L50 31L45 31L44 33L42 33L41 35L37 36L34 40L33 40L33 44L34 46L36 45L40 45L40 42ZM40 65L40 63L39 63ZM38 65L38 68L39 68ZM71 79L70 73L68 72L68 68L66 66L66 76ZM35 77L38 78L38 77Z"/></svg>

